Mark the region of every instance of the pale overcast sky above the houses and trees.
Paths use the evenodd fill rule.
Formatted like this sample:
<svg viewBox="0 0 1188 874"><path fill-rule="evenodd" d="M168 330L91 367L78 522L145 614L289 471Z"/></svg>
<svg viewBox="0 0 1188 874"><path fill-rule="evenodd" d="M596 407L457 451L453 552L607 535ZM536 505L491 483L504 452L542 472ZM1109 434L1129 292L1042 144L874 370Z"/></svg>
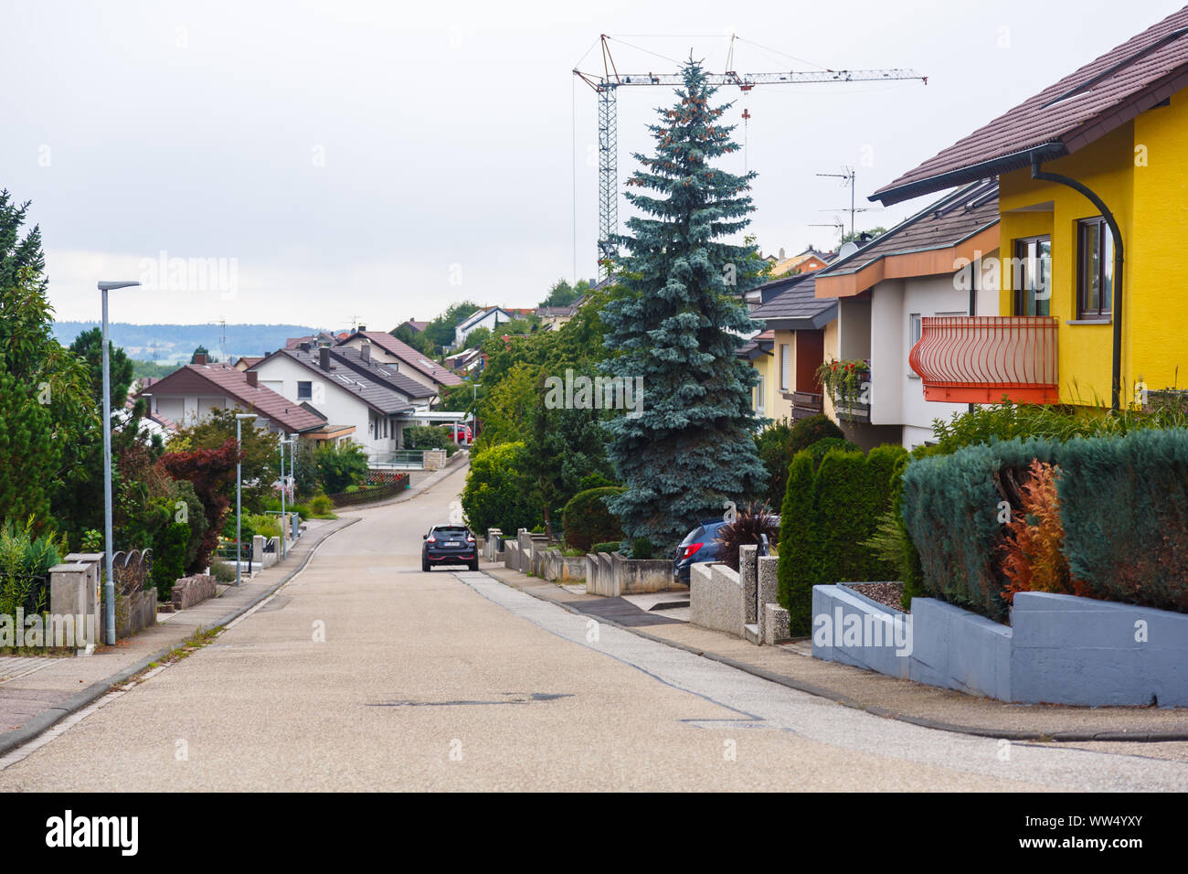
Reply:
<svg viewBox="0 0 1188 874"><path fill-rule="evenodd" d="M835 243L813 225L848 221L848 190L815 174L855 166L873 206L879 186L1181 5L0 0L0 188L33 201L59 319L96 319L96 281L141 278L168 253L225 259L227 281L116 293L113 320L387 329L459 300L533 306L575 258L594 276L595 95L570 70L583 56L600 69L599 33L619 37L620 73L675 71L665 58L690 51L720 71L738 33L739 73L929 77L719 92L752 115L726 164L759 172L751 229L791 254ZM671 98L620 89L620 181Z"/></svg>

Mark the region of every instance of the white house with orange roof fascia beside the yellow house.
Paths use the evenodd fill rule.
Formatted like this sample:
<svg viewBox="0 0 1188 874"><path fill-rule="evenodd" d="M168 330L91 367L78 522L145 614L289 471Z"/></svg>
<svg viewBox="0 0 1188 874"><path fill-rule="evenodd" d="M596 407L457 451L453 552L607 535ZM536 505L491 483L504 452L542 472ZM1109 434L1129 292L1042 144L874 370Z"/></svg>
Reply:
<svg viewBox="0 0 1188 874"><path fill-rule="evenodd" d="M946 195L815 273L816 296L838 301L824 360L870 363L858 403L839 410L824 401L848 439L864 448L914 448L935 438L934 420L968 409L925 401L908 354L925 316L998 315L997 279L981 279L997 257L998 182L990 180Z"/></svg>

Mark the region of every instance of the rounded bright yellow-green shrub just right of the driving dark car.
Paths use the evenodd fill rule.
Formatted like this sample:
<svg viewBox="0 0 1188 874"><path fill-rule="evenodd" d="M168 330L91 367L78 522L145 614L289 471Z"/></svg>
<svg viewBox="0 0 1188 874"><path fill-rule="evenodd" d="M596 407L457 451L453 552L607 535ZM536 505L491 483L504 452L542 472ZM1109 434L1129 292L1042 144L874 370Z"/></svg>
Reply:
<svg viewBox="0 0 1188 874"><path fill-rule="evenodd" d="M524 483L526 452L523 442L497 444L470 457L462 513L472 530L485 535L488 528L498 528L514 536L520 528L542 524L541 507Z"/></svg>

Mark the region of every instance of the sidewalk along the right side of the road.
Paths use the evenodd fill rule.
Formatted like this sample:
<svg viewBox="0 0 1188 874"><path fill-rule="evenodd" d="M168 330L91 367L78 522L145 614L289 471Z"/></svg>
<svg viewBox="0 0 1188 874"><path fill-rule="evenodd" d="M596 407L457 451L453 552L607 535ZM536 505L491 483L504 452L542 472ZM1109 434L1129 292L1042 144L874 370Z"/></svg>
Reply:
<svg viewBox="0 0 1188 874"><path fill-rule="evenodd" d="M479 570L574 612L594 615L590 602L607 601L510 571L501 564L481 561ZM649 616L644 610L639 612ZM813 658L808 640L760 647L687 622L624 622L619 614L613 618L604 614L600 621L790 688L925 728L1011 741L1188 741L1188 710L1183 709L1006 704L821 661ZM1130 752L1142 753L1138 748Z"/></svg>

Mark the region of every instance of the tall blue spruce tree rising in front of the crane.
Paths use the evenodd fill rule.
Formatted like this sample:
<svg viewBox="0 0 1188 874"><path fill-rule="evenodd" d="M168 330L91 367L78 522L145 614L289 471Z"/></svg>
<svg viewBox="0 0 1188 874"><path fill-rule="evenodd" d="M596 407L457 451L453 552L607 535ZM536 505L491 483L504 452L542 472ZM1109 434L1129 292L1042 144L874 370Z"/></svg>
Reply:
<svg viewBox="0 0 1188 874"><path fill-rule="evenodd" d="M759 328L742 302L763 262L753 245L731 245L753 212L754 172L713 162L738 150L729 108L710 106L715 88L700 63L683 68L680 102L650 125L656 153L636 155L627 200L644 215L627 221L615 265L621 294L602 310L613 376L643 378L643 409L608 423L608 455L627 489L607 501L628 539L675 547L726 501L759 493L766 471L752 436L754 371L734 356L740 334Z"/></svg>

